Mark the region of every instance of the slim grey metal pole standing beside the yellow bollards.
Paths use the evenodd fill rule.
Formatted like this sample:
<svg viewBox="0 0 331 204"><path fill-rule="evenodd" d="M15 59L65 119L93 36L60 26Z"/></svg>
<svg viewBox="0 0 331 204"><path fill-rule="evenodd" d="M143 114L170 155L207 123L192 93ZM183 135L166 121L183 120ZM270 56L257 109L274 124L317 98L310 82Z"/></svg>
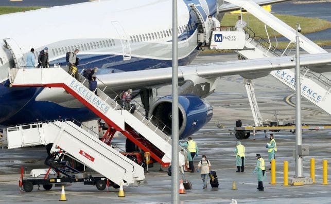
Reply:
<svg viewBox="0 0 331 204"><path fill-rule="evenodd" d="M295 36L295 178L302 177L302 156L299 155L299 145L302 145L301 134L301 83L300 83L300 25L297 23L297 36Z"/></svg>

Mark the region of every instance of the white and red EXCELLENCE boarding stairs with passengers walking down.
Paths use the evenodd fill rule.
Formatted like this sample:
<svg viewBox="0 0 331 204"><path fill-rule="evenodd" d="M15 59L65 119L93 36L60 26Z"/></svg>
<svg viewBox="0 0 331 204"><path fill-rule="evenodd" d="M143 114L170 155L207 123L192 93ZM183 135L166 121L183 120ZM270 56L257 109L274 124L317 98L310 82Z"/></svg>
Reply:
<svg viewBox="0 0 331 204"><path fill-rule="evenodd" d="M10 86L62 87L76 99L102 118L110 127L122 133L144 152L150 152L151 157L161 165L171 162L171 138L162 129L136 112L133 114L120 108L120 105L102 90L99 96L89 90L88 80L79 75L81 82L68 75L61 67L43 69L8 70ZM179 148L179 162L184 165L185 151Z"/></svg>

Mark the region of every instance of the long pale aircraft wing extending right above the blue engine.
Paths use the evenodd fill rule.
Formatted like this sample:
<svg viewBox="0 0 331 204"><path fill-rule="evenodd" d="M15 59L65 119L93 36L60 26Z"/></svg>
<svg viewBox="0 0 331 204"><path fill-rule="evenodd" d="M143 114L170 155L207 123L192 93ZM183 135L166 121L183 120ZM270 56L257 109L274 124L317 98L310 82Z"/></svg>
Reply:
<svg viewBox="0 0 331 204"><path fill-rule="evenodd" d="M301 67L308 67L315 72L331 71L331 53L304 54L300 56ZM179 83L184 83L187 78L204 78L206 80L230 75L258 75L261 72L269 73L272 70L292 69L295 67L293 57L274 57L253 60L240 60L217 62L204 65L189 65L178 67ZM172 68L160 68L141 71L110 73L99 75L107 87L114 91L129 88L153 88L171 84Z"/></svg>

